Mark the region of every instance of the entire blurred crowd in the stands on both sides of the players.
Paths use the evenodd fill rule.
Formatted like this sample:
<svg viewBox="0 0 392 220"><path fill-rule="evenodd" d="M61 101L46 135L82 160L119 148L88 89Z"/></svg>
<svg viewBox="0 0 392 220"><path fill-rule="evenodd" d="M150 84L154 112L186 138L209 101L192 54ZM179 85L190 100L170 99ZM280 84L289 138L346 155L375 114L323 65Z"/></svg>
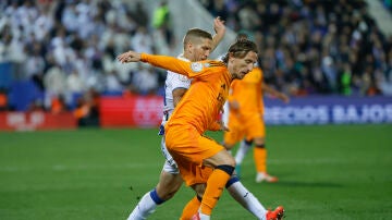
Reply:
<svg viewBox="0 0 392 220"><path fill-rule="evenodd" d="M392 95L392 36L363 0L198 1L255 40L266 82L290 96ZM1 1L0 64L11 63L12 82L0 82L0 110L17 109L17 81L38 89L29 110L77 117L96 108L100 95L161 95L164 71L121 65L115 57L128 49L168 54L182 44L172 34L175 17L166 1L152 13L131 2Z"/></svg>

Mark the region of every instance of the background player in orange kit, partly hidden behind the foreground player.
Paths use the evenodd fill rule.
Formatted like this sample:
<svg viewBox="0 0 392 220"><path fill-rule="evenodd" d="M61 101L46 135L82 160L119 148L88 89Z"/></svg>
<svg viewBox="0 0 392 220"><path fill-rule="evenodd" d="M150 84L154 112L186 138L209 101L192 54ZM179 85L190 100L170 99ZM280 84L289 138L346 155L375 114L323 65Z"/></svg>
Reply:
<svg viewBox="0 0 392 220"><path fill-rule="evenodd" d="M237 39L247 39L247 36L240 34ZM256 164L256 182L277 182L278 178L267 172L267 149L266 149L266 126L264 122L262 96L268 93L284 102L289 97L264 83L262 70L255 66L242 81L234 81L231 84L228 98L229 118L226 122L229 132L224 133L223 145L232 149L238 142L240 148L235 155L236 173L241 172L241 163L245 155L255 144L254 160ZM223 117L224 118L224 117Z"/></svg>

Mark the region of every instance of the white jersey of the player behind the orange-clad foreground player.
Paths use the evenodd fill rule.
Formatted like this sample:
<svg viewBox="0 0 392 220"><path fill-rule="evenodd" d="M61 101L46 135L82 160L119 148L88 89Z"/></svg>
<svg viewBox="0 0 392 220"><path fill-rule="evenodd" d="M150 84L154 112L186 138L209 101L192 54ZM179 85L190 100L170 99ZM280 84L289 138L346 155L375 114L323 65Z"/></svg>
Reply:
<svg viewBox="0 0 392 220"><path fill-rule="evenodd" d="M177 58L180 60L191 62L189 60L184 58L183 54L180 54ZM184 75L168 71L167 80L164 82L163 118L162 118L162 123L160 126L159 135L164 134L164 124L167 123L170 115L174 111L173 90L176 88L188 89L191 86L191 82L192 82L192 80Z"/></svg>

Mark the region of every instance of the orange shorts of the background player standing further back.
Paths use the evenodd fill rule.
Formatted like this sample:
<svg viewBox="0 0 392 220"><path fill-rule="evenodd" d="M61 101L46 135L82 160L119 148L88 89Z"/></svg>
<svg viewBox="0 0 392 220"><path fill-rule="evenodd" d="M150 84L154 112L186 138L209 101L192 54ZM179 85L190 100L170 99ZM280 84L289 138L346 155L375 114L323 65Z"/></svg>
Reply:
<svg viewBox="0 0 392 220"><path fill-rule="evenodd" d="M266 126L260 113L241 115L230 113L228 127L229 132L225 132L223 137L228 145L235 145L243 138L250 140L255 137L266 136Z"/></svg>

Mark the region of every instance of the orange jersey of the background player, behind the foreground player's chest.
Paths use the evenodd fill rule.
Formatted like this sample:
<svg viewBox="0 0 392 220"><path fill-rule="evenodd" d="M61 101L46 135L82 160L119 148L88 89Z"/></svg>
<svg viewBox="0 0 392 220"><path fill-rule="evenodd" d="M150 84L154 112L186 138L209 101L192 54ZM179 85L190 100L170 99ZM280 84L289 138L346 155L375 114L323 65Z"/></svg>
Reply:
<svg viewBox="0 0 392 220"><path fill-rule="evenodd" d="M262 102L262 71L254 68L241 81L233 81L231 84L230 100L240 103L240 113L264 112Z"/></svg>

